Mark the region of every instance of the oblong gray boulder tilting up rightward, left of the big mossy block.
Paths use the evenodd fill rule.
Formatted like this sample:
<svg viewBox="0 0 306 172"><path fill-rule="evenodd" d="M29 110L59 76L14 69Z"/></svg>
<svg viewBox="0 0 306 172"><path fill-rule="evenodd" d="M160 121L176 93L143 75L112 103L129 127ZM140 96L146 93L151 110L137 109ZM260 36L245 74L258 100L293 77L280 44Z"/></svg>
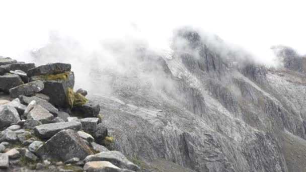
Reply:
<svg viewBox="0 0 306 172"><path fill-rule="evenodd" d="M29 82L26 84L19 85L15 88L10 89L10 97L17 98L20 95L33 95L34 93L38 93L44 89L44 83L41 80L36 80L33 82Z"/></svg>

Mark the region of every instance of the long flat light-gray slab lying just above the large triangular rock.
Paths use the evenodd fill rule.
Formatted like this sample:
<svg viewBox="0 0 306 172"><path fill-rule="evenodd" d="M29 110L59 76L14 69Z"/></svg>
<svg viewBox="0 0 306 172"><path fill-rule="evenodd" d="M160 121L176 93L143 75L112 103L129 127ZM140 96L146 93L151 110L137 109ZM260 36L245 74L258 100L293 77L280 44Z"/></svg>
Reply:
<svg viewBox="0 0 306 172"><path fill-rule="evenodd" d="M82 128L82 124L78 121L71 122L58 122L51 124L44 124L34 127L34 132L39 138L50 138L57 132L64 129L72 129L79 131Z"/></svg>

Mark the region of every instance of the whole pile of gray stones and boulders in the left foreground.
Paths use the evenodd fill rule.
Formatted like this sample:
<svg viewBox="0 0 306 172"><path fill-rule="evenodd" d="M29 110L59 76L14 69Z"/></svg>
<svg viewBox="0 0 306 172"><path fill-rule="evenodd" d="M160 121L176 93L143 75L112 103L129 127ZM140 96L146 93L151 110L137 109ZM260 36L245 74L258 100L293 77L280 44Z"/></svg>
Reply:
<svg viewBox="0 0 306 172"><path fill-rule="evenodd" d="M105 147L112 137L101 123L100 106L73 87L70 64L35 67L0 57L0 168L139 170Z"/></svg>

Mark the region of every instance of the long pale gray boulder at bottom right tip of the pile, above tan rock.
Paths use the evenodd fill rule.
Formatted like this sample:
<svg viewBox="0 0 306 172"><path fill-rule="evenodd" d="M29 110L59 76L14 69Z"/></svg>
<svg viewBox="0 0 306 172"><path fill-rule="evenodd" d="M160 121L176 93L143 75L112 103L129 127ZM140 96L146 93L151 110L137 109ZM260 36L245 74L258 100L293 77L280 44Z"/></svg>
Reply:
<svg viewBox="0 0 306 172"><path fill-rule="evenodd" d="M137 165L129 161L119 151L107 151L107 152L97 153L94 155L89 155L85 158L85 162L89 161L109 161L120 168L126 168L133 171L137 171L140 169Z"/></svg>

